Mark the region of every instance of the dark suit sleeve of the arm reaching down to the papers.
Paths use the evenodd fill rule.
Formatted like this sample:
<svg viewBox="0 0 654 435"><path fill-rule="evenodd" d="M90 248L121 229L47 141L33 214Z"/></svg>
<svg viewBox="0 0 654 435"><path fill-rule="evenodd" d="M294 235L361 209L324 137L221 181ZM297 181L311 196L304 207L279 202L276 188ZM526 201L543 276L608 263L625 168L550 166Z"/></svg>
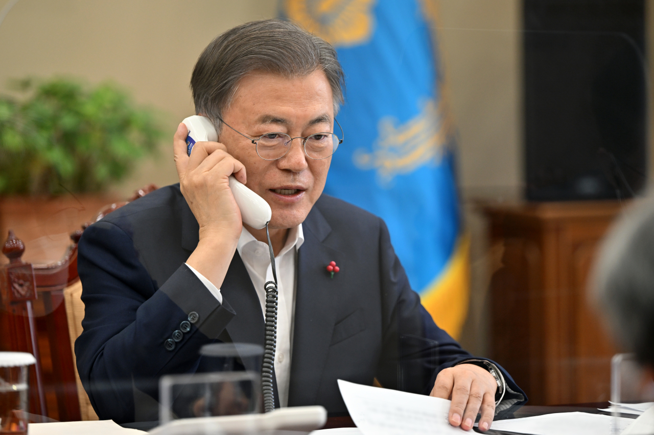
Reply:
<svg viewBox="0 0 654 435"><path fill-rule="evenodd" d="M462 349L445 330L440 329L424 309L420 297L409 284L392 245L386 224L381 221L379 235L381 297L385 330L383 352L377 379L384 387L428 395L441 370L474 357ZM490 360L487 360L490 361ZM526 396L499 364L507 387ZM513 400L513 403L520 400Z"/></svg>

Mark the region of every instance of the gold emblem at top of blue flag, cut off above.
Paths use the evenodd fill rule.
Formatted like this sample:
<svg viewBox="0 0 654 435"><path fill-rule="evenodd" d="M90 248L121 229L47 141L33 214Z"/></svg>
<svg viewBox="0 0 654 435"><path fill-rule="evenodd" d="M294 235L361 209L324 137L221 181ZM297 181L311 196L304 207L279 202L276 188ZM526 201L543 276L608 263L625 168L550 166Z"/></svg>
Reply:
<svg viewBox="0 0 654 435"><path fill-rule="evenodd" d="M370 39L376 0L284 0L284 12L307 31L334 46L353 46Z"/></svg>

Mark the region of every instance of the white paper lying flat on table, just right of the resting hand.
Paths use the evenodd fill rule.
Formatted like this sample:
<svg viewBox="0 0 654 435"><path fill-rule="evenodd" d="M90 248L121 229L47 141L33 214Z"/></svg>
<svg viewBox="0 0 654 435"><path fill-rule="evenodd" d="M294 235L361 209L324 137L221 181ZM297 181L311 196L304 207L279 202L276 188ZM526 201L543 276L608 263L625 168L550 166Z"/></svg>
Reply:
<svg viewBox="0 0 654 435"><path fill-rule="evenodd" d="M532 435L618 435L634 419L587 412L561 412L525 417L523 419L493 421L494 430Z"/></svg>

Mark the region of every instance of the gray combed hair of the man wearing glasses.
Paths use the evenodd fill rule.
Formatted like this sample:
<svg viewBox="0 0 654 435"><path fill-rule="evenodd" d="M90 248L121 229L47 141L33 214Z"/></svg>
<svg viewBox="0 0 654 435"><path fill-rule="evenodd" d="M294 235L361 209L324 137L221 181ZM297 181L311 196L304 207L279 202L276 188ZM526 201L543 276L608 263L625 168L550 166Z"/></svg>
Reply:
<svg viewBox="0 0 654 435"><path fill-rule="evenodd" d="M343 104L345 81L336 50L320 37L280 19L241 24L205 48L191 76L196 114L204 114L216 125L228 108L239 81L252 71L265 71L286 78L324 71L332 88L334 115Z"/></svg>

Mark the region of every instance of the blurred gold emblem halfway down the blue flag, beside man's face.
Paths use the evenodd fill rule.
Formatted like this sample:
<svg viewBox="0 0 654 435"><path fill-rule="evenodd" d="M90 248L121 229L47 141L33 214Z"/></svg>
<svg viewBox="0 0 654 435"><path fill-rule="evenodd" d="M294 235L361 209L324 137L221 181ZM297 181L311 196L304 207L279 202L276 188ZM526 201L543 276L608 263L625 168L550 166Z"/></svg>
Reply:
<svg viewBox="0 0 654 435"><path fill-rule="evenodd" d="M429 163L438 164L454 133L449 110L444 106L443 99L438 106L436 101L429 100L417 116L400 125L392 116L381 118L372 152L354 152L354 165L377 170L379 182L388 184L398 174L413 172Z"/></svg>

